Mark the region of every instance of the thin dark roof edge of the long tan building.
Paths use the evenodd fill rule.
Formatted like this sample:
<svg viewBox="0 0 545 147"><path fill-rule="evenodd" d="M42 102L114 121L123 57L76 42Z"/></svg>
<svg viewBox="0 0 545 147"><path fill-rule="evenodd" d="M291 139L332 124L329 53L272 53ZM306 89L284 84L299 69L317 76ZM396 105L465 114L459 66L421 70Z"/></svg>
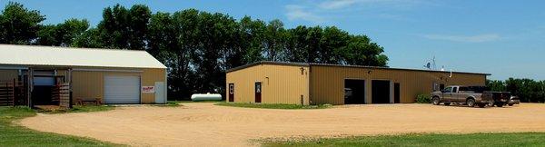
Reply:
<svg viewBox="0 0 545 147"><path fill-rule="evenodd" d="M391 68L391 67L380 67L380 66L364 66L364 65L345 65L345 64L315 64L315 63L288 63L288 62L271 62L271 61L262 61L256 62L253 64L245 64L242 66L234 67L227 70L227 73L248 68L258 64L281 64L281 65L294 65L294 66L337 66L337 67L356 67L356 68L371 68L371 69L385 69L385 70L402 70L402 71L418 71L418 72L437 72L437 73L450 73L450 71L433 71L433 70L421 70L421 69L406 69L406 68ZM469 72L452 72L452 73L469 73ZM482 75L491 75L490 73L469 73L469 74L482 74Z"/></svg>

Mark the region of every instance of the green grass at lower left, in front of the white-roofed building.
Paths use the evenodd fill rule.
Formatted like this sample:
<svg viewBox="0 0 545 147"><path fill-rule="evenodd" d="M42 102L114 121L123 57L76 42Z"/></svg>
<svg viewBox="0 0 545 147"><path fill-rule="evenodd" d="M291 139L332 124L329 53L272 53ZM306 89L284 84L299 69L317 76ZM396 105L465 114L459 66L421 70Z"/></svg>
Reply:
<svg viewBox="0 0 545 147"><path fill-rule="evenodd" d="M73 112L104 111L110 108L79 108ZM28 107L0 107L0 146L122 146L93 139L50 132L37 132L18 126L13 121L35 116Z"/></svg>

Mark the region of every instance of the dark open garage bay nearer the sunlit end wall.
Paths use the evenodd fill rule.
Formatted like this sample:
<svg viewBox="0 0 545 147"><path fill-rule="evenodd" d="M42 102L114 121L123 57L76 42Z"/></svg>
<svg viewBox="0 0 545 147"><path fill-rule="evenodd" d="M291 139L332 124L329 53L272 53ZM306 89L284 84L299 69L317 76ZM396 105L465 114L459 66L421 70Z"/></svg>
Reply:
<svg viewBox="0 0 545 147"><path fill-rule="evenodd" d="M344 80L344 103L365 103L365 80Z"/></svg>

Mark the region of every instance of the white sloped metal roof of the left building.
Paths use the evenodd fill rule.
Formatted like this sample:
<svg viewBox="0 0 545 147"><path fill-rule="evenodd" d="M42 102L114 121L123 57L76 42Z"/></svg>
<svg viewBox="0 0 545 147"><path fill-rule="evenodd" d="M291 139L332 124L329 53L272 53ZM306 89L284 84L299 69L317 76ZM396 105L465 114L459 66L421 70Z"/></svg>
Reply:
<svg viewBox="0 0 545 147"><path fill-rule="evenodd" d="M166 68L145 51L0 44L0 64Z"/></svg>

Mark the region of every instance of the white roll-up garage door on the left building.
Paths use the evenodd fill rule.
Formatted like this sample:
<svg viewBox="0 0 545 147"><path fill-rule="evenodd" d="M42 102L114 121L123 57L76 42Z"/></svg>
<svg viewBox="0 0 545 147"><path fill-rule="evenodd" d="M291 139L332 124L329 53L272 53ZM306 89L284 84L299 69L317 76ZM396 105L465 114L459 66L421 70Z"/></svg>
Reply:
<svg viewBox="0 0 545 147"><path fill-rule="evenodd" d="M104 79L104 103L140 103L140 76L107 75Z"/></svg>

